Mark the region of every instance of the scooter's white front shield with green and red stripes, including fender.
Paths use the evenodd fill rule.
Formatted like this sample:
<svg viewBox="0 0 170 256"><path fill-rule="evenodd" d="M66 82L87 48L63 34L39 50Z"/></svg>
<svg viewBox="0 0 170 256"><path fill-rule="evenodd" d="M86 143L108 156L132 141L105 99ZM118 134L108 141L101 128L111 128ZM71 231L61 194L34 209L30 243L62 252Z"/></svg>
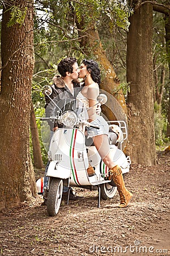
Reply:
<svg viewBox="0 0 170 256"><path fill-rule="evenodd" d="M70 185L90 185L87 168L88 157L85 137L79 129L57 129L52 137L50 147L52 162L47 176L67 179Z"/></svg>

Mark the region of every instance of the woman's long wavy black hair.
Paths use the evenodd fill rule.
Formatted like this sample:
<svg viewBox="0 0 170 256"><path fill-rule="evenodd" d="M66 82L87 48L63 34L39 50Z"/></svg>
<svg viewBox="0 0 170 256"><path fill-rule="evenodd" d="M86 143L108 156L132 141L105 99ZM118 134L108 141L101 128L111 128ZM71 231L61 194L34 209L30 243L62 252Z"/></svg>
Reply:
<svg viewBox="0 0 170 256"><path fill-rule="evenodd" d="M95 60L84 59L82 61L82 63L84 65L86 65L87 71L88 72L90 71L92 80L94 80L94 82L97 82L97 84L100 84L100 82L101 82L100 68L99 68L99 65L97 64L97 62Z"/></svg>

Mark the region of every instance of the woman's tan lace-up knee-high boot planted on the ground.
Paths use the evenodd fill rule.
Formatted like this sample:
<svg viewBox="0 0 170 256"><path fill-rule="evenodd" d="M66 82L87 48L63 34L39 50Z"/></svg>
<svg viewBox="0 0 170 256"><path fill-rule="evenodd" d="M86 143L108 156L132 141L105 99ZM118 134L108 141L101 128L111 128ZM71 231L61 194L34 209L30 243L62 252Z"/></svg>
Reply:
<svg viewBox="0 0 170 256"><path fill-rule="evenodd" d="M122 175L121 168L119 166L114 166L111 169L109 169L109 178L113 179L114 183L117 186L117 190L118 190L120 201L121 201L118 207L120 208L127 207L133 195L125 187L124 177Z"/></svg>

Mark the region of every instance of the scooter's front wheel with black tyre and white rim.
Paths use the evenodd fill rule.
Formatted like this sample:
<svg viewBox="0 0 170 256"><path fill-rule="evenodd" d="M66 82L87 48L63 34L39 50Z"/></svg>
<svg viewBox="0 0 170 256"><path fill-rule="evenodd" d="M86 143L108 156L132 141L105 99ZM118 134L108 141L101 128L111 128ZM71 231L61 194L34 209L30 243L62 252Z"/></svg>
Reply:
<svg viewBox="0 0 170 256"><path fill-rule="evenodd" d="M48 198L46 209L49 216L55 216L58 213L62 199L63 181L56 177L50 177Z"/></svg>

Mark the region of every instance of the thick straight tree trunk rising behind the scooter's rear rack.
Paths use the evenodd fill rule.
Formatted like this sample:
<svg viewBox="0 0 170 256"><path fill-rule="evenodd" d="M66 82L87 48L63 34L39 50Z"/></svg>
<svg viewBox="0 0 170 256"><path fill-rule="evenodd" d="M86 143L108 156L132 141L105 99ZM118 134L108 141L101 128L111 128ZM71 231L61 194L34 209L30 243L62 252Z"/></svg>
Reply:
<svg viewBox="0 0 170 256"><path fill-rule="evenodd" d="M145 3L130 17L127 82L130 84L127 153L133 163L156 164L154 84L152 61L152 5Z"/></svg>

